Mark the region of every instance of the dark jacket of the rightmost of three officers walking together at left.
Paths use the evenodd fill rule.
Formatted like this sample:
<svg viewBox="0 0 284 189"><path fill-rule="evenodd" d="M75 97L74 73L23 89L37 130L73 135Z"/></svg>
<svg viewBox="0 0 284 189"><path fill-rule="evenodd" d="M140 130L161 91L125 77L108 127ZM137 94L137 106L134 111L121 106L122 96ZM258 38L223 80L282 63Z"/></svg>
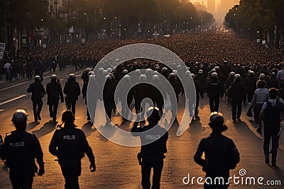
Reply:
<svg viewBox="0 0 284 189"><path fill-rule="evenodd" d="M68 80L65 83L63 93L66 94L66 101L77 101L80 96L80 86L77 81Z"/></svg>

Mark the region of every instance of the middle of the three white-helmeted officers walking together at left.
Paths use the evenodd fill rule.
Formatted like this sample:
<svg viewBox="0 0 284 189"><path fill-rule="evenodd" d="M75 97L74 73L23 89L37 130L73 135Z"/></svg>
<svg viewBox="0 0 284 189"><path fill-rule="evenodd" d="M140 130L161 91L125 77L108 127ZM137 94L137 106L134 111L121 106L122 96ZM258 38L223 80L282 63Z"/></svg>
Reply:
<svg viewBox="0 0 284 189"><path fill-rule="evenodd" d="M58 76L53 74L51 76L51 81L46 85L46 93L48 94L48 105L49 105L49 115L56 121L56 115L58 113L58 102L61 99L61 103L64 102L64 97L62 93L62 88L60 83L57 81Z"/></svg>

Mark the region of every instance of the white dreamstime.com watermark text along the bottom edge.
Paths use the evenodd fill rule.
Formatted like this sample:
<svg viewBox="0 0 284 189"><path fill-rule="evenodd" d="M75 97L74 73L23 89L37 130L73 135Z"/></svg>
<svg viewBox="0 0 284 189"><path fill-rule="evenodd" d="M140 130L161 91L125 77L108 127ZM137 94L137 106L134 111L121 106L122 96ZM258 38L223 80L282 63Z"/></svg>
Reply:
<svg viewBox="0 0 284 189"><path fill-rule="evenodd" d="M239 170L239 176L234 175L229 178L224 178L222 176L211 178L207 176L203 177L195 177L190 176L190 173L187 174L184 178L182 178L182 183L184 185L281 185L280 180L266 180L262 176L246 176L246 169L241 168Z"/></svg>

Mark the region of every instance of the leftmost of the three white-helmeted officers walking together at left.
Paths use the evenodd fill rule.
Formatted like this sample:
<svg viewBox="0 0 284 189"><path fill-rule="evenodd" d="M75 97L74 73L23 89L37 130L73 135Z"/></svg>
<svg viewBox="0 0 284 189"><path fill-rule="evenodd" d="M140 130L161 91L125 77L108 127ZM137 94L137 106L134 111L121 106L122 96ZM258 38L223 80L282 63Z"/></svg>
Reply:
<svg viewBox="0 0 284 189"><path fill-rule="evenodd" d="M40 112L41 108L43 108L43 96L45 94L45 89L43 84L40 82L40 76L35 76L35 82L30 84L27 90L28 93L31 93L31 101L33 101L33 116L35 122L41 120Z"/></svg>

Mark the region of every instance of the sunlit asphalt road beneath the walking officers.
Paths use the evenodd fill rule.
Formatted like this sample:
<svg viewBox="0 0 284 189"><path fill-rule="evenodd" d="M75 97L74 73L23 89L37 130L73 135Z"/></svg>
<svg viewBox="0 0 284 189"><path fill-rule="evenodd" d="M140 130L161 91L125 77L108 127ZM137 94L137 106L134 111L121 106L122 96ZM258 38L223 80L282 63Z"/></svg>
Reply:
<svg viewBox="0 0 284 189"><path fill-rule="evenodd" d="M82 74L83 70L78 70L77 75ZM68 67L62 71L57 71L62 79L62 87L65 84L67 76L70 73L76 72L73 67ZM50 73L44 74L45 80L43 85L50 81ZM77 81L82 81L78 76ZM50 139L55 131L55 123L50 122L48 105L46 105L46 96L44 99L43 110L41 117L43 120L37 125L33 122L33 110L31 104L31 97L26 93L28 85L31 81L20 79L18 81L0 82L0 134L5 136L6 132L14 130L11 123L11 116L13 111L18 108L26 109L28 114L29 132L33 132L40 140L40 144L44 152L45 174L43 176L36 176L33 182L33 188L64 188L64 178L60 170L58 162L55 161L55 156L48 152ZM180 98L180 105L185 103L185 100ZM242 122L233 123L231 120L230 106L224 101L221 101L220 112L224 113L226 118L226 125L229 130L224 132L224 135L231 137L241 154L241 161L234 170L231 171L231 176L240 176L239 170L246 169L246 177L263 177L265 183L268 180L280 181L282 186L268 186L268 185L234 185L231 183L229 188L283 188L284 185L284 146L283 137L280 139L280 149L278 150L279 168L273 168L265 164L263 155L263 139L256 133L257 125L246 118L244 108L241 116ZM65 104L61 103L58 108L58 113L65 110ZM178 122L180 122L183 110L178 110ZM58 115L58 118L60 116ZM98 110L96 118L103 119L104 112ZM131 122L124 122L121 125L121 117L114 115L114 124L124 130L131 129ZM190 179L194 177L204 177L202 168L195 164L193 156L197 149L200 140L207 137L211 129L207 125L209 122L209 105L208 99L205 97L200 102L200 119L195 120L190 124L190 128L180 137L176 136L178 129L178 122L170 128L168 139L168 153L166 154L165 164L161 178L161 188L202 188L202 185L195 184L185 185L182 179L190 174ZM60 122L59 122L60 123ZM123 147L114 144L105 139L100 134L94 125L87 122L86 106L84 100L80 96L77 102L76 120L75 124L81 128L87 135L90 146L96 156L97 171L91 173L89 171L89 161L87 157L82 159L82 175L80 176L81 188L141 188L141 168L138 166L136 159L139 147ZM0 166L4 163L0 161ZM241 181L241 178L240 178ZM11 188L9 181L9 173L0 168L0 188Z"/></svg>

